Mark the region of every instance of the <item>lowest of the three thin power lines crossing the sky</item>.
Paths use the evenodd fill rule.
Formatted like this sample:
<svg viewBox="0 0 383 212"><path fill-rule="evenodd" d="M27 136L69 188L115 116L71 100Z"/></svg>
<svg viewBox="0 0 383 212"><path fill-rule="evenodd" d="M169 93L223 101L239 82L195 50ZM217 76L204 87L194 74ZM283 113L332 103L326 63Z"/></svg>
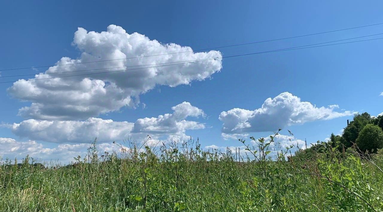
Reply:
<svg viewBox="0 0 383 212"><path fill-rule="evenodd" d="M327 45L319 45L319 46L311 46L311 47L303 47L303 48L294 48L294 49L284 49L284 50L272 50L267 52L254 52L254 53L247 53L247 54L241 54L241 55L232 55L227 57L218 57L218 58L208 58L203 60L196 60L191 62L185 62L185 63L177 63L177 64L168 64L168 65L162 65L162 66L171 66L171 65L180 65L180 64L186 64L186 63L195 63L195 62L201 62L201 61L207 61L207 60L216 60L221 58L232 58L232 57L241 57L241 56L247 56L247 55L255 55L255 54L261 54L261 53L269 53L269 52L283 52L283 51L289 51L289 50L298 50L298 49L309 49L309 48L315 48L315 47L323 47L323 46L331 46L331 45L340 45L340 44L350 44L350 43L356 43L356 42L364 42L369 40L379 40L383 39L381 38L375 38L375 39L368 39L368 40L356 40L356 41L350 41L350 42L343 42L338 44L327 44ZM162 67L162 66L152 66L152 67L144 67L144 68L156 68L156 67ZM51 77L51 78L41 78L41 79L28 79L28 81L35 81L35 80L42 80L42 79L56 79L56 78L64 78L64 77L72 77L72 76L84 76L84 75L92 75L92 74L102 74L102 73L113 73L113 72L119 72L119 71L130 71L130 70L139 70L144 68L133 68L133 69L125 69L125 70L117 70L117 71L104 71L104 72L97 72L97 73L87 73L87 74L77 74L77 75L69 75L69 76L58 76L58 77ZM24 80L26 81L26 80ZM1 83L16 83L16 82L23 82L23 81L8 81L8 82L0 82Z"/></svg>

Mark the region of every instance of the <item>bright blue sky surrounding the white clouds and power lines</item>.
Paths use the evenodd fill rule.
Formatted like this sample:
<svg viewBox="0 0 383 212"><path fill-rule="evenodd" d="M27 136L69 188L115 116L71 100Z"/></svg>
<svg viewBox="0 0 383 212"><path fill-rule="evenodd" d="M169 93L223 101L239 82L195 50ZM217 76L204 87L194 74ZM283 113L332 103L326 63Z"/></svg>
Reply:
<svg viewBox="0 0 383 212"><path fill-rule="evenodd" d="M357 1L327 1L320 3L307 1L105 3L95 1L92 4L75 1L7 2L2 3L0 8L0 18L3 20L0 22L2 29L2 33L0 33L2 49L0 51L0 57L2 58L0 69L54 65L62 57L80 58L83 50L79 45L82 44L75 44L74 42L74 33L78 31L79 27L87 30L87 32L95 31L100 33L107 31L110 24L115 24L128 34L137 32L147 36L150 40L157 40L161 44L175 43L196 50L383 23L383 15L380 10L382 6L383 3L379 1L369 3ZM378 33L383 33L383 25L216 49L220 53L215 55L230 56L262 52ZM109 41L106 40L106 42ZM88 137L76 137L77 139L88 139L87 141L77 142L76 139L67 139L66 141L65 139L56 138L49 140L47 136L44 137L41 134L52 129L44 129L43 121L85 121L87 118L101 118L102 120L113 120L119 127L124 127L125 125L120 126L119 124L126 121L132 123L132 125L126 124L129 125L126 126L127 128L133 127L133 123L136 123L136 125L132 129L133 131L121 129L119 136L121 137L124 133L126 135L122 136L121 140L127 136L142 139L143 134L151 134L152 131L148 130L149 125L145 125L146 127L140 125L141 128L139 128L138 119L145 117L158 118L159 115L172 114L172 107L183 102L189 102L190 105L180 105L180 108L182 108L180 111L190 111L190 113L186 116L174 114L173 119L174 117L178 118L173 120L170 117L170 120L175 121L174 126L182 120L191 121L188 123L193 127L185 128L183 126L177 129L166 128L164 130L161 128L161 133L157 132L157 137L154 137L168 139L169 134L172 134L168 131L173 130L176 131L177 138L182 137L179 137L179 133L184 133L184 136L192 136L193 138L199 137L203 146L240 146L235 139L224 139L221 135L225 131L223 124L226 123L219 120L221 112L228 112L233 108L253 111L260 108L266 99L273 99L283 92L292 94L286 96L287 99L299 97L301 102L309 102L311 105L316 105L316 108L325 107L327 110L305 110L303 111L303 118L296 117L295 121L289 123L282 120L279 123L281 127L290 129L297 139L304 140L306 138L309 142L323 141L332 132L335 134L340 133L346 125L346 120L352 118L352 112L368 112L371 115L378 115L383 112L383 96L380 96L381 92L383 92L383 86L381 86L381 79L383 78L383 72L381 71L383 63L382 42L382 40L374 40L224 58L215 64L196 65L194 67L197 71L204 71L203 67L208 67L210 74L204 80L199 81L197 78L192 78L186 84L178 83L177 86L170 87L169 83L158 85L162 81L159 82L156 81L157 79L153 79L154 86L139 91L139 104L131 103L128 106L121 107L109 105L106 109L100 109L101 112L96 112L96 115L87 116L84 114L79 115L77 118L73 115L69 118L57 118L56 114L53 114L50 118L46 118L44 114L39 116L18 115L20 108L31 107L32 102L43 104L44 106L41 106L41 108L48 109L56 108L57 104L65 105L67 103L65 102L65 89L60 90L60 86L57 84L55 85L57 87L53 90L60 90L57 95L63 95L63 100L62 102L59 100L55 104L49 103L51 105L47 103L47 99L44 99L46 98L44 95L31 100L32 97L30 96L34 94L33 90L28 90L31 87L27 88L27 90L23 90L26 88L21 86L15 87L14 91L11 92L8 88L13 85L12 83L0 84L0 99L2 100L0 104L0 122L2 123L0 138L3 138L3 143L0 144L3 145L2 149L25 146L23 151L16 149L14 149L15 151L3 150L0 151L0 154L3 157L20 157L31 150L36 151L31 152L35 157L56 159L56 157L61 156L45 153L44 155L42 152L44 152L44 149L45 151L54 152L52 149L56 148L58 150L58 145L68 144L78 145L68 147L73 150L70 153L77 154L81 150L75 148L85 147L81 145L94 137L90 133L92 131L89 131ZM94 50L88 44L83 45L85 49ZM147 53L147 55L150 55L150 53ZM186 56L184 58L188 59ZM220 63L222 67L216 68ZM36 74L43 73L46 70L47 68L2 71L1 75ZM184 71L182 68L178 70L181 75ZM173 75L169 74L164 77L168 77L164 79L167 81ZM2 78L1 81L31 78L34 77ZM118 80L123 81L124 75L118 76L118 78ZM68 81L66 82L68 83ZM155 85L156 83L157 85ZM43 87L39 87L39 89L42 90L38 92L44 92ZM81 89L76 91L77 94L79 92L81 92ZM129 90L129 92L131 91ZM27 97L23 96L23 93L26 93ZM68 93L68 95L70 94ZM127 95L126 92L124 95ZM101 98L100 101L103 101L103 99ZM145 108L142 103L146 105ZM114 104L113 101L111 104ZM328 105L339 105L339 108L332 108ZM183 108L184 106L187 109ZM294 104L287 104L287 106L296 109L296 107L302 105L298 102L298 106ZM111 110L111 108L118 108L118 110ZM52 113L61 114L62 110L60 108L56 109L52 109L53 112L50 110L50 115ZM203 113L197 109L203 110ZM43 109L41 110L43 111ZM110 111L105 112L107 110ZM174 111L177 113L177 110ZM345 111L350 112L346 113ZM313 113L317 112L324 113L327 118L318 118L323 114L317 114L316 118L311 117ZM282 112L280 113L282 114ZM280 113L275 112L275 114ZM31 119L39 124L39 129L31 127L36 123L30 123L30 125L23 126L23 128L17 128L13 125L13 123L18 124ZM270 122L267 117L261 120ZM299 123L300 121L304 123ZM55 125L53 122L50 123ZM69 125L72 124L72 122L68 123ZM238 134L242 133L244 137L246 137L245 134L254 137L268 136L270 131L277 130L262 131L257 129L255 126L259 123L257 118L255 118L254 123L251 121L247 121L247 123L252 127L247 128L247 130L237 130ZM77 124L80 125L81 123L77 122ZM203 127L198 124L202 124ZM15 128L12 128L12 126ZM110 128L103 128L103 133L110 133L108 130L112 131L114 127L112 125ZM65 129L61 130L57 126L55 129L61 133L65 131ZM39 133L36 133L36 130L40 130ZM51 133L52 136L55 135L55 131ZM282 131L282 134L288 135L287 131ZM65 135L63 133L61 136ZM73 132L70 135L73 136ZM119 140L119 136L106 136L100 142L105 143L105 148L106 146L112 148L107 144L111 142L112 138L113 140ZM33 142L33 144L30 142ZM40 144L43 148L41 148ZM28 145L32 145L34 149L28 150Z"/></svg>

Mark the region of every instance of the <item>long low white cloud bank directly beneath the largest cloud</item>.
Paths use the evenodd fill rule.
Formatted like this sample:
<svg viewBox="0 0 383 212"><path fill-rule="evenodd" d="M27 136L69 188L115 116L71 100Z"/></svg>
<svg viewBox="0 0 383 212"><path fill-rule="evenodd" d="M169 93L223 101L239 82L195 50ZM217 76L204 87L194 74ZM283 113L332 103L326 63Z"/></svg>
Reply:
<svg viewBox="0 0 383 212"><path fill-rule="evenodd" d="M155 141L182 141L188 138L188 129L203 129L205 125L196 121L187 121L187 117L205 116L203 110L183 102L172 107L173 113L157 118L140 118L135 123L127 121L88 118L85 121L46 121L29 119L13 125L4 125L12 129L17 136L46 142L85 142L97 137L100 142L121 141L124 138L143 140L149 134Z"/></svg>

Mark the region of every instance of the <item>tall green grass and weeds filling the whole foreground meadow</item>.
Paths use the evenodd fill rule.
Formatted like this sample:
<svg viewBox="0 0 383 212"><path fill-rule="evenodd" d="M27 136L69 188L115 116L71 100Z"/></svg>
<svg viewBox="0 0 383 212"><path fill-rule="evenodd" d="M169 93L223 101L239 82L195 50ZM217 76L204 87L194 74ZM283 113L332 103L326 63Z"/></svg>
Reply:
<svg viewBox="0 0 383 212"><path fill-rule="evenodd" d="M268 145L260 144L260 158L235 162L230 152L188 145L131 146L119 157L100 157L93 145L88 157L59 168L5 162L1 211L383 210L382 151L361 159L328 148L286 161L267 159Z"/></svg>

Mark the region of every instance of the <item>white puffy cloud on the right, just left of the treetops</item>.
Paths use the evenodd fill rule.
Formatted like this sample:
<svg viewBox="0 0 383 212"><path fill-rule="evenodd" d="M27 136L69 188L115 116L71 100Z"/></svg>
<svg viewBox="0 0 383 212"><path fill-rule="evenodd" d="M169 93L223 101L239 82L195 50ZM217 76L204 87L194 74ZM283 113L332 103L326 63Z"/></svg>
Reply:
<svg viewBox="0 0 383 212"><path fill-rule="evenodd" d="M266 99L262 107L255 110L234 108L224 111L219 115L219 120L223 121L222 133L246 134L275 131L288 125L330 120L353 114L350 111L335 112L336 108L339 108L338 105L316 107L310 102L301 102L299 97L289 92L284 92L273 99Z"/></svg>

